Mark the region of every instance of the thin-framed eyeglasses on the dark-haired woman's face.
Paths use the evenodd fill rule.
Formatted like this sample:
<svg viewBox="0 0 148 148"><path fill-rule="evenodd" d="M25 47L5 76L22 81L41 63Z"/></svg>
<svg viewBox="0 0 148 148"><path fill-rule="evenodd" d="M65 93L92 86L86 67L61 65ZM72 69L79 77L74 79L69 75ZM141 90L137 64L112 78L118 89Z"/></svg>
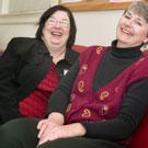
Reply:
<svg viewBox="0 0 148 148"><path fill-rule="evenodd" d="M56 25L57 23L59 23L64 27L68 27L70 25L70 23L68 21L65 21L65 20L58 21L55 18L49 18L47 23L50 25Z"/></svg>

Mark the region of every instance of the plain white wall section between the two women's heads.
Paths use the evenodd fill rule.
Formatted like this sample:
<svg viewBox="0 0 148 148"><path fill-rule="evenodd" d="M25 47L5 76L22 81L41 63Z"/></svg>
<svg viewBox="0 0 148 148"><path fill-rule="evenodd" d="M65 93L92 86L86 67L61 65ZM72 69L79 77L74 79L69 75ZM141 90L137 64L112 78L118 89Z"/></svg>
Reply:
<svg viewBox="0 0 148 148"><path fill-rule="evenodd" d="M116 24L123 11L89 11L75 13L78 44L109 45L115 38Z"/></svg>

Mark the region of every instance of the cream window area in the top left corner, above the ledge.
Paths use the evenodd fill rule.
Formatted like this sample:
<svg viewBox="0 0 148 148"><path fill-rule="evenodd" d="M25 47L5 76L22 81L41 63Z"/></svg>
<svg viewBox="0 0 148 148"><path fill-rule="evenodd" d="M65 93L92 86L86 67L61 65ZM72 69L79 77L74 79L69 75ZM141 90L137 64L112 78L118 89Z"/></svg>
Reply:
<svg viewBox="0 0 148 148"><path fill-rule="evenodd" d="M59 0L0 0L0 13L20 14L41 12L58 3Z"/></svg>

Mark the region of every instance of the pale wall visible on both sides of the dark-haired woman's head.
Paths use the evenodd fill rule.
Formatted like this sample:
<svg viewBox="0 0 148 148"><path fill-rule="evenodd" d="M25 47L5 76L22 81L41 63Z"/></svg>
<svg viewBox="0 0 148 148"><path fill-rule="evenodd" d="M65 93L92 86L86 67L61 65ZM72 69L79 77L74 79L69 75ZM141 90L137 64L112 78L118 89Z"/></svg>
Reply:
<svg viewBox="0 0 148 148"><path fill-rule="evenodd" d="M75 12L78 27L76 44L110 45L115 38L116 24L122 13L122 10ZM13 36L34 36L39 15L0 16L0 49L5 49Z"/></svg>

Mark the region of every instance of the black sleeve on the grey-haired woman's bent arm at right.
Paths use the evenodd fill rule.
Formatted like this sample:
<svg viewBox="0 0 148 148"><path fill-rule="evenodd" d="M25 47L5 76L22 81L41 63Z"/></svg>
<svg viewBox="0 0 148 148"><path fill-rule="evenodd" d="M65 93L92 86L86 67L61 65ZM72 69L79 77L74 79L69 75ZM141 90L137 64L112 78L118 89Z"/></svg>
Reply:
<svg viewBox="0 0 148 148"><path fill-rule="evenodd" d="M123 99L116 118L96 123L83 122L87 137L106 140L127 139L141 122L148 109L148 79L133 83Z"/></svg>

